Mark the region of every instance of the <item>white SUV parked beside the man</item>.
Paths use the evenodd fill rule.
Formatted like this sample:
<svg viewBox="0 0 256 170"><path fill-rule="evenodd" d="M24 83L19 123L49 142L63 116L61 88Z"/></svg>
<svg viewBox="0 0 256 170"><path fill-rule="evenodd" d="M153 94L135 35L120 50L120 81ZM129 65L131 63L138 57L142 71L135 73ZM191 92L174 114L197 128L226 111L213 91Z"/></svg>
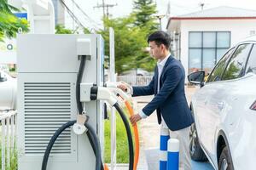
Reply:
<svg viewBox="0 0 256 170"><path fill-rule="evenodd" d="M206 82L204 71L189 75L201 88L191 100L190 155L215 169L255 169L256 37L224 54Z"/></svg>

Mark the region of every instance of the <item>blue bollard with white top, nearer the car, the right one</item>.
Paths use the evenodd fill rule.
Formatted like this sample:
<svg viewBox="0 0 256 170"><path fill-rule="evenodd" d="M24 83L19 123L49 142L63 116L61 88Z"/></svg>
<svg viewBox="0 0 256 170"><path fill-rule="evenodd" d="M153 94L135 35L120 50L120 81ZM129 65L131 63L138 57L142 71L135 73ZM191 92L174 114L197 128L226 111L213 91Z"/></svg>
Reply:
<svg viewBox="0 0 256 170"><path fill-rule="evenodd" d="M168 140L167 170L178 170L179 165L179 141Z"/></svg>

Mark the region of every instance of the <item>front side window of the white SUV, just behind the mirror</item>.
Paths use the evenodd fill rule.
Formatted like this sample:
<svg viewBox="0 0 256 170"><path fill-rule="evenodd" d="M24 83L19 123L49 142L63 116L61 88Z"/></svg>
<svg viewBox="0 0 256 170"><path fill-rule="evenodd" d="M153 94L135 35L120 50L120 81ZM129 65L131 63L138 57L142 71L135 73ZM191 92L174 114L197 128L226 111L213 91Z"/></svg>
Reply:
<svg viewBox="0 0 256 170"><path fill-rule="evenodd" d="M218 61L218 64L215 66L210 77L207 79L207 82L217 82L221 80L221 76L230 59L230 55L233 53L234 49L235 48L231 48L230 51L224 54L223 58Z"/></svg>

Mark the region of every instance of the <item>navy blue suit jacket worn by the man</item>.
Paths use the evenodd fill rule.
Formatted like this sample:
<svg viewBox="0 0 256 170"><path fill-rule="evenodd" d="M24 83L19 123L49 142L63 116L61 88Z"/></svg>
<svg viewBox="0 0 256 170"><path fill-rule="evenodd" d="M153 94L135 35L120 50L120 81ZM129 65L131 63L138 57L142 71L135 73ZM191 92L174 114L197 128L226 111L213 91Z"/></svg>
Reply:
<svg viewBox="0 0 256 170"><path fill-rule="evenodd" d="M166 60L166 65L160 76L160 91L157 93L158 69L154 69L154 77L148 86L132 87L133 96L154 94L154 99L143 108L143 112L150 116L157 110L158 123L161 115L166 125L172 131L189 127L194 118L191 115L184 92L185 71L180 61L172 55Z"/></svg>

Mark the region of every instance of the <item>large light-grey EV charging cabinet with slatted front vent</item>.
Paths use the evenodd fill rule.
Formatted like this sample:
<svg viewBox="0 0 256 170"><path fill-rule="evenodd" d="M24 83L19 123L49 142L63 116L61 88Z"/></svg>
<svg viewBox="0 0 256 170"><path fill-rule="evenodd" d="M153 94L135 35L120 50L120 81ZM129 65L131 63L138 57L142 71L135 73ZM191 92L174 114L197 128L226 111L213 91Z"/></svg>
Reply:
<svg viewBox="0 0 256 170"><path fill-rule="evenodd" d="M89 56L82 82L103 85L104 42L100 35L46 34L19 35L17 42L18 167L38 170L53 133L77 119L75 96L81 49ZM103 150L103 102L90 101L83 107ZM47 169L95 169L95 161L88 138L67 128L51 150Z"/></svg>

